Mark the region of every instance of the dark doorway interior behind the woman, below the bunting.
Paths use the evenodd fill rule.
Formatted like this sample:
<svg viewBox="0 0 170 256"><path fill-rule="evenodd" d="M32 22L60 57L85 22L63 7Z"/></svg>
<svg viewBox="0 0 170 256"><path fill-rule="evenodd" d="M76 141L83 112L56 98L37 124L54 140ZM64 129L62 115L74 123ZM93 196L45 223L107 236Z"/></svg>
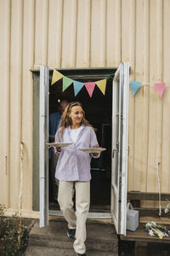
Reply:
<svg viewBox="0 0 170 256"><path fill-rule="evenodd" d="M115 68L92 68L92 69L62 69L60 73L68 78L80 82L94 82L107 79L105 96L96 85L92 97L88 95L85 86L77 96L74 95L73 85L62 91L62 80L51 84L52 71L49 76L49 108L48 113L58 111L59 101L81 102L86 113L86 119L97 131L99 146L107 148L99 159L92 159L91 162L91 204L90 212L111 212L111 131L112 131L112 79ZM49 173L50 175L50 173ZM53 193L50 190L53 186L49 176L49 210L58 211L59 205L54 201Z"/></svg>

